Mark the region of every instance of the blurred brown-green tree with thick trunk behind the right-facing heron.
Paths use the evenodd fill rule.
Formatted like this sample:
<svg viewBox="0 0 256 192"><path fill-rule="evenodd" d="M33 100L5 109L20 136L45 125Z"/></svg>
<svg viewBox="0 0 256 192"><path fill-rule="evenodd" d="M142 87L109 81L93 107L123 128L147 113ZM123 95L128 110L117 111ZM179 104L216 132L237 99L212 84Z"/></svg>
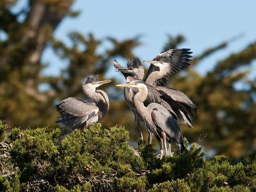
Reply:
<svg viewBox="0 0 256 192"><path fill-rule="evenodd" d="M13 13L11 8L16 2L0 3L0 33L6 36L0 40L0 119L11 126L55 126L56 102L68 96L81 98L84 77L99 73L105 78L111 58L132 57L132 48L140 44L138 38L124 41L108 38L113 48L98 54L96 49L104 40L97 40L93 34L74 32L69 35L72 46L67 47L54 38L53 32L63 18L78 14L70 9L74 0L29 0L28 7ZM46 45L69 63L60 77L40 73L45 67L41 57ZM40 84L47 84L49 89L38 90Z"/></svg>

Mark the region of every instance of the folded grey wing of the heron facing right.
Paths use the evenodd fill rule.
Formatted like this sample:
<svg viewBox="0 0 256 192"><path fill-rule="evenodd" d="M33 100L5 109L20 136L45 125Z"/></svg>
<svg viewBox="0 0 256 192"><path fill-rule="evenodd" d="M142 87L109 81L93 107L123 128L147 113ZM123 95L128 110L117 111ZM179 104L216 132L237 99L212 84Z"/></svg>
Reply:
<svg viewBox="0 0 256 192"><path fill-rule="evenodd" d="M76 117L82 117L92 113L97 114L99 112L99 108L95 103L88 103L75 97L61 101L60 104L56 105L56 110L61 115L70 114Z"/></svg>

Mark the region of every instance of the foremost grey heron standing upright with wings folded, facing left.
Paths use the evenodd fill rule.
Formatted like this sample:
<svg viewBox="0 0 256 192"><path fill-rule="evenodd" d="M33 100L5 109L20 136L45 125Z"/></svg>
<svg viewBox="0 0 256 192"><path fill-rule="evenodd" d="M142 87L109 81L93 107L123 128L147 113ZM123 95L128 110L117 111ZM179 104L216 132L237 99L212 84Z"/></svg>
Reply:
<svg viewBox="0 0 256 192"><path fill-rule="evenodd" d="M150 103L147 107L143 104L147 100L148 88L145 82L134 80L127 84L118 84L118 87L130 87L137 89L138 92L134 95L134 106L137 112L143 117L148 130L154 133L160 145L160 158L163 156L163 150L168 154L166 142L177 142L180 151L186 150L184 138L180 132L177 120L168 110L159 103ZM159 138L161 138L159 140Z"/></svg>

